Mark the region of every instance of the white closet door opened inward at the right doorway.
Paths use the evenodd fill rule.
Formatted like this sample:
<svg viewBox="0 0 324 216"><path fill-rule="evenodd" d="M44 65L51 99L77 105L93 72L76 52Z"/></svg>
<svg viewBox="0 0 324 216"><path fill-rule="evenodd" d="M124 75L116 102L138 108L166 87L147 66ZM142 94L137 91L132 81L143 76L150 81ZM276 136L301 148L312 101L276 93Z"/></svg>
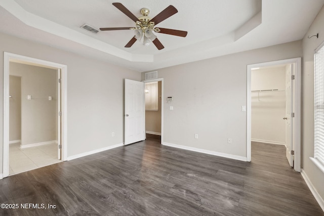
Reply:
<svg viewBox="0 0 324 216"><path fill-rule="evenodd" d="M293 64L287 65L286 67L286 157L290 166L294 166L294 155L292 150L294 150L294 133L293 133L293 100L292 96L294 94L294 80L292 79L293 75Z"/></svg>

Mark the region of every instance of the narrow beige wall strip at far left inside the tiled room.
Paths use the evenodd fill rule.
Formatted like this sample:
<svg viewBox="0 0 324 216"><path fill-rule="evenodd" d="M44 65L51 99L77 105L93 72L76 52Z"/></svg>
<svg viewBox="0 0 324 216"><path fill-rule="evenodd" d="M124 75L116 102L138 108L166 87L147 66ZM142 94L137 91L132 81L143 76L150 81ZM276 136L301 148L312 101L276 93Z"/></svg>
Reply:
<svg viewBox="0 0 324 216"><path fill-rule="evenodd" d="M21 77L9 77L9 141L21 140Z"/></svg>

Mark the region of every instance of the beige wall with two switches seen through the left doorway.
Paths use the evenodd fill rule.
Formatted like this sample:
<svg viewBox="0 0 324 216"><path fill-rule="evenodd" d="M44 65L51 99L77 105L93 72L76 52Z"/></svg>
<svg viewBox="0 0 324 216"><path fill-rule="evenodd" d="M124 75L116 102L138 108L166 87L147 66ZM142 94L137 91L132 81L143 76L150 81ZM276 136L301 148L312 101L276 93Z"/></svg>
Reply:
<svg viewBox="0 0 324 216"><path fill-rule="evenodd" d="M21 146L55 141L57 70L15 62L9 67L10 75L21 77Z"/></svg>

